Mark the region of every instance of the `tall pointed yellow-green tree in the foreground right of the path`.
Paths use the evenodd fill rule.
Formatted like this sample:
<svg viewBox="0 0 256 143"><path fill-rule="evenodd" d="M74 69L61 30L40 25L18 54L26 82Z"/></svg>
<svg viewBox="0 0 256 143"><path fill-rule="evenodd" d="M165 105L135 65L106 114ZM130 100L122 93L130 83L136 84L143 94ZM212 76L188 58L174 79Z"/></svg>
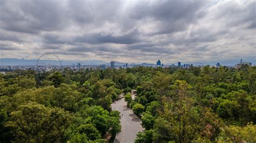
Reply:
<svg viewBox="0 0 256 143"><path fill-rule="evenodd" d="M205 133L214 140L219 134L216 117L208 109L193 106L190 85L177 80L172 86L172 98L163 97L164 111L154 124L153 140L189 142Z"/></svg>

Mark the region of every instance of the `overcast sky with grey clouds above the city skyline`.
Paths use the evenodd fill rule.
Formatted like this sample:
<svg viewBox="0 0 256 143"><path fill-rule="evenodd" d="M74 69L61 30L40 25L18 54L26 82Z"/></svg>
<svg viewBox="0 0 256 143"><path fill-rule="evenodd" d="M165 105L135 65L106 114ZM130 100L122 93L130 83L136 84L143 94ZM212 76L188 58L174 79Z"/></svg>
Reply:
<svg viewBox="0 0 256 143"><path fill-rule="evenodd" d="M255 8L250 0L1 0L0 56L255 64Z"/></svg>

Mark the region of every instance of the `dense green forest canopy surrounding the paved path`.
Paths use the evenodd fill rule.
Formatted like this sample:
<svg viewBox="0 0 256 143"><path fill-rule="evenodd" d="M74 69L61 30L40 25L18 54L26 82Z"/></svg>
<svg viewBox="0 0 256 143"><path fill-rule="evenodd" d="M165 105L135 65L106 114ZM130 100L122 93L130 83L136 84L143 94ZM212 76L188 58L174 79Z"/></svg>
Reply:
<svg viewBox="0 0 256 143"><path fill-rule="evenodd" d="M120 94L142 119L136 142L256 142L255 86L247 66L15 70L0 74L0 142L113 139Z"/></svg>

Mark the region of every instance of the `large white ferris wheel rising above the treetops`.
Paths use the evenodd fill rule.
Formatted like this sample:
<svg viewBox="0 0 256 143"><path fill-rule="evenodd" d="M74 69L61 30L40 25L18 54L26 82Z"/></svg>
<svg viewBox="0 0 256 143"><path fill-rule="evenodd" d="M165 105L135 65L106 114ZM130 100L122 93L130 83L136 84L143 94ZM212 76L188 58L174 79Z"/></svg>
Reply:
<svg viewBox="0 0 256 143"><path fill-rule="evenodd" d="M62 61L56 54L45 53L39 56L36 62L36 69L38 71L50 71L52 69L60 69L62 67Z"/></svg>

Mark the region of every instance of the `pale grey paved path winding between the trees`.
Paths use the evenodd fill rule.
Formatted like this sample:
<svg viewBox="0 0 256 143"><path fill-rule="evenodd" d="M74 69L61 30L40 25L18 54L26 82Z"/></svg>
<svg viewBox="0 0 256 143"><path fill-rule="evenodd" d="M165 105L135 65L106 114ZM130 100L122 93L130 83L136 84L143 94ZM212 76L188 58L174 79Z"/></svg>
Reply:
<svg viewBox="0 0 256 143"><path fill-rule="evenodd" d="M118 110L121 112L121 116L123 114L123 117L121 117L120 120L122 129L121 132L117 134L114 142L134 142L137 133L144 131L142 125L140 125L142 121L130 110L130 108L127 108L124 98L113 102L111 106L112 110Z"/></svg>

